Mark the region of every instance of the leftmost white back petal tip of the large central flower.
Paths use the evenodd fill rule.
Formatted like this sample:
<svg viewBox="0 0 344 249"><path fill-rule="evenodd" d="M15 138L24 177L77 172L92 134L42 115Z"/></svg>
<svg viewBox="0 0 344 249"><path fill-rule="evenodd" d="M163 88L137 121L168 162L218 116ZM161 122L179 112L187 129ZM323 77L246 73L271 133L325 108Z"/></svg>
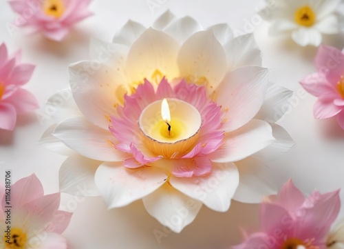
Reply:
<svg viewBox="0 0 344 249"><path fill-rule="evenodd" d="M47 148L48 150L58 153L60 155L69 156L74 153L74 150L71 150L63 142L61 142L60 139L57 137L54 137L52 133L56 129L57 124L53 124L45 132L43 133L41 139L39 140L39 143L41 143L42 146Z"/></svg>

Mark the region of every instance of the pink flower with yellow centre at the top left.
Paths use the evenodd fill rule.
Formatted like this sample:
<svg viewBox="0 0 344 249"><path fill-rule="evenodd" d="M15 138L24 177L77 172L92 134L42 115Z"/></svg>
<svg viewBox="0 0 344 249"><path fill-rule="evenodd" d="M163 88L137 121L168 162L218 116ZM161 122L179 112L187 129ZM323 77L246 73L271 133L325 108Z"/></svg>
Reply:
<svg viewBox="0 0 344 249"><path fill-rule="evenodd" d="M92 15L87 8L91 0L9 0L12 10L19 14L14 21L18 27L30 27L45 37L61 41L70 28Z"/></svg>

